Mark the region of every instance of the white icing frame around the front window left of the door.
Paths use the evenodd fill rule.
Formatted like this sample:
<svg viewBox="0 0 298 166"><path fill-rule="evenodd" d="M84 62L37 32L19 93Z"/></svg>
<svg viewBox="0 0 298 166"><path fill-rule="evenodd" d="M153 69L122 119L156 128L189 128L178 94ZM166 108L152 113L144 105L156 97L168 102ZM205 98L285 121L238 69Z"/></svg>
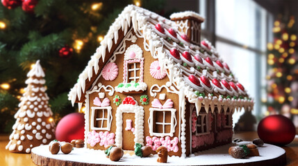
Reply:
<svg viewBox="0 0 298 166"><path fill-rule="evenodd" d="M102 118L97 118L101 120L101 127L94 127L94 116L95 116L95 111L104 111L107 110L107 118L104 118L104 113L103 113L103 117ZM102 127L104 124L104 120L106 120L106 127ZM92 130L106 130L106 131L110 131L110 126L113 120L113 116L112 116L112 107L108 106L108 107L91 107L91 129ZM97 122L97 120L95 121Z"/></svg>

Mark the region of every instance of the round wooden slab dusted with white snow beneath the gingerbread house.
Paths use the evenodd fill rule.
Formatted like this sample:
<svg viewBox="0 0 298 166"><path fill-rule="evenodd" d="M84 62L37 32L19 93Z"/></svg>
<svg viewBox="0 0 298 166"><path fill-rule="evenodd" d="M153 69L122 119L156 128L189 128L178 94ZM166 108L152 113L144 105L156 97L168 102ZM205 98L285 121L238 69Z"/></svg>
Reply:
<svg viewBox="0 0 298 166"><path fill-rule="evenodd" d="M188 158L176 156L167 158L168 163L163 165L285 165L285 150L281 147L265 144L258 147L260 156L244 159L233 158L228 154L228 149L232 145L224 145L201 151ZM53 155L49 152L48 145L35 147L31 150L31 158L36 165L72 165L72 166L95 166L95 165L160 165L156 160L157 155L148 158L140 158L124 154L119 162L110 161L106 158L104 151L86 148L74 148L70 154L63 154L61 151Z"/></svg>

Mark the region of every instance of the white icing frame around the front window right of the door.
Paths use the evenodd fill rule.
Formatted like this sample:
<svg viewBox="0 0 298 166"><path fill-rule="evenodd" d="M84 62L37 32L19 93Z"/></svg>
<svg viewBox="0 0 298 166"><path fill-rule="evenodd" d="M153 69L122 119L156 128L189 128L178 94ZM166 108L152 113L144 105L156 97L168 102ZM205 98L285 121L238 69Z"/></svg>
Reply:
<svg viewBox="0 0 298 166"><path fill-rule="evenodd" d="M177 125L177 119L176 119L176 109L158 109L158 108L150 108L150 116L148 119L148 124L149 124L149 133L150 136L170 136L173 137L174 132L175 132L175 127ZM156 121L154 120L154 111L163 111L163 122L161 125L163 125L163 131L165 131L165 125L171 125L171 130L169 133L156 133L154 132L154 124L156 124ZM171 111L171 122L170 124L165 123L165 111Z"/></svg>

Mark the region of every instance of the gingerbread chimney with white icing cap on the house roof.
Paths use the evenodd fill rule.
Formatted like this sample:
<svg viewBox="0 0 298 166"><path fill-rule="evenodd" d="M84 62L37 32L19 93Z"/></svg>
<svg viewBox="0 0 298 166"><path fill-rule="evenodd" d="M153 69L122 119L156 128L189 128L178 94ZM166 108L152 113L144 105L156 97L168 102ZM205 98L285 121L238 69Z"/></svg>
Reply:
<svg viewBox="0 0 298 166"><path fill-rule="evenodd" d="M201 23L204 17L196 12L175 12L169 16L178 26L178 30L185 33L193 44L201 43Z"/></svg>

